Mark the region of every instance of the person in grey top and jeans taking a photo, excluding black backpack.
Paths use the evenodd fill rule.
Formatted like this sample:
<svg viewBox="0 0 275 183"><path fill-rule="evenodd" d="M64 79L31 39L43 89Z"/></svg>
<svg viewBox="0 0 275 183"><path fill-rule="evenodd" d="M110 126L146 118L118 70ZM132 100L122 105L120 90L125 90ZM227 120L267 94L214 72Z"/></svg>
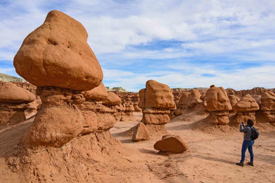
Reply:
<svg viewBox="0 0 275 183"><path fill-rule="evenodd" d="M247 148L250 154L250 162L248 162L248 164L251 166L254 166L253 165L254 154L253 154L252 146L255 141L251 139L251 135L253 132L252 128L254 128L253 125L254 125L254 122L251 119L247 120L247 125L245 126L244 126L244 122L241 122L240 124L240 132L243 132L244 136L243 136L243 145L241 147L241 161L239 163L236 163L239 166L244 166L245 152Z"/></svg>

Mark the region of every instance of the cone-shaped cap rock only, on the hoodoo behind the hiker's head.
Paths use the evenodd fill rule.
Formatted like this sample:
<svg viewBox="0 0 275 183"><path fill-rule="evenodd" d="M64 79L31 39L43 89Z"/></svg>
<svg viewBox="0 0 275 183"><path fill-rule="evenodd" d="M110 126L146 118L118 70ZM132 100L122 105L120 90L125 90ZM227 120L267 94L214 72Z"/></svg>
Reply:
<svg viewBox="0 0 275 183"><path fill-rule="evenodd" d="M237 112L250 112L259 110L259 105L250 96L250 94L245 95L237 104L235 104L232 109Z"/></svg>

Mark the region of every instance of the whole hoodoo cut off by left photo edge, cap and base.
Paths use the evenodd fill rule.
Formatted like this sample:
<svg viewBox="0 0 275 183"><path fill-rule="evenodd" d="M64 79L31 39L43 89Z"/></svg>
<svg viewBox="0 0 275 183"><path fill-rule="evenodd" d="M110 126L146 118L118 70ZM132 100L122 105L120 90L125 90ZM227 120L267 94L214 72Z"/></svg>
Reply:
<svg viewBox="0 0 275 183"><path fill-rule="evenodd" d="M0 87L0 129L26 120L24 111L35 96L26 89L8 82Z"/></svg>

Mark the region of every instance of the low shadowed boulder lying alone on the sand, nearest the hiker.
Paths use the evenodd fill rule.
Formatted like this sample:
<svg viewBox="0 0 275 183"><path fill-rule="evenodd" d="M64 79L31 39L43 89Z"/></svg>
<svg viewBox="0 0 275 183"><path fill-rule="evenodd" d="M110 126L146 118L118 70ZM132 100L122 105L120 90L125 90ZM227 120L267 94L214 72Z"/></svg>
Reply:
<svg viewBox="0 0 275 183"><path fill-rule="evenodd" d="M184 152L188 149L187 144L179 135L164 135L154 144L154 149L160 152Z"/></svg>

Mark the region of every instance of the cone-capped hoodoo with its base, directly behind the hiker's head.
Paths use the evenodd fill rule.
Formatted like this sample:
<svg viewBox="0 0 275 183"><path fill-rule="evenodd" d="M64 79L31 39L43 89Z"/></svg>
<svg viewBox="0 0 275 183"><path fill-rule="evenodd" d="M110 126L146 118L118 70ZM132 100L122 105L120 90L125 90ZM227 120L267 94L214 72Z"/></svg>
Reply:
<svg viewBox="0 0 275 183"><path fill-rule="evenodd" d="M243 98L232 107L232 110L237 113L230 119L230 124L238 125L242 121L246 122L248 119L255 121L255 111L259 109L258 103L250 94L243 96Z"/></svg>

